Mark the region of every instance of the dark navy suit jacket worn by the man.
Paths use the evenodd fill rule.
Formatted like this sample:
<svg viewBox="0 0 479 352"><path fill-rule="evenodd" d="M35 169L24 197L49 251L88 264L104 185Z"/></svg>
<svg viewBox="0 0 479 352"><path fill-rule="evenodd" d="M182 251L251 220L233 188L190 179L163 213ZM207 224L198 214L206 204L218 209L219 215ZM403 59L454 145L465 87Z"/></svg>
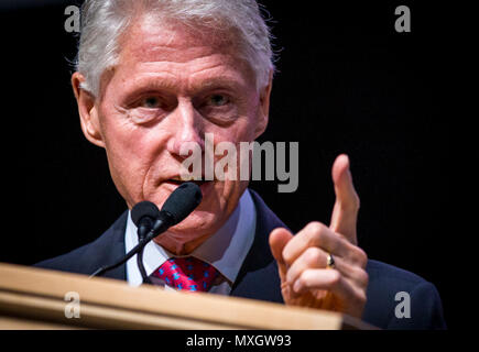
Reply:
<svg viewBox="0 0 479 352"><path fill-rule="evenodd" d="M285 224L254 191L257 232L253 244L233 284L231 296L283 302L277 266L268 237ZM98 267L119 261L126 252L124 230L128 211L96 241L67 254L35 264L37 267L90 275ZM420 276L378 261L368 261L369 285L362 319L382 329L445 329L443 308L435 286ZM105 277L127 279L126 265L105 274ZM406 292L411 297L411 318L396 318L395 295Z"/></svg>

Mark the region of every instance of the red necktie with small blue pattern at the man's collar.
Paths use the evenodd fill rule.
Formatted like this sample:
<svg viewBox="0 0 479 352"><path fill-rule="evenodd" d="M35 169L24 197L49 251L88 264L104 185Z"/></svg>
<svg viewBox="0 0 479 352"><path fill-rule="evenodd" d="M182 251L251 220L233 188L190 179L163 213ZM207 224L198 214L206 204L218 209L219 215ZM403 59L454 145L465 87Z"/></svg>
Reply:
<svg viewBox="0 0 479 352"><path fill-rule="evenodd" d="M218 271L194 256L172 257L164 262L152 276L161 278L170 287L186 292L208 292Z"/></svg>

